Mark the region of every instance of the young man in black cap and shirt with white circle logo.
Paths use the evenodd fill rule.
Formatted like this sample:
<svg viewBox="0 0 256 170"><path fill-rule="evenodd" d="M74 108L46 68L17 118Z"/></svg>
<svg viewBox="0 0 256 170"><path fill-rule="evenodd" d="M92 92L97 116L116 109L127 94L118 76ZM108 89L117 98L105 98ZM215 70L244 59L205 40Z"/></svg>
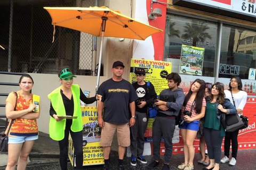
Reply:
<svg viewBox="0 0 256 170"><path fill-rule="evenodd" d="M136 166L137 160L142 164L147 164L147 160L142 156L144 150L144 133L148 124L148 106L153 104L157 98L156 91L152 83L145 82L146 72L143 68L135 70L137 82L134 82L134 87L139 99L135 101L136 105L136 122L131 129L131 165ZM137 142L138 134L138 142Z"/></svg>

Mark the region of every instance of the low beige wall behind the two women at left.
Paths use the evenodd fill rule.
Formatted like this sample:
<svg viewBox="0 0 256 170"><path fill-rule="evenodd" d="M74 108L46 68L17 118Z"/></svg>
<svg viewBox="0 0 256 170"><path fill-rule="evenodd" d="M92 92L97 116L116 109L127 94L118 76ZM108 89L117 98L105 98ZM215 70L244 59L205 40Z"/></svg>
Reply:
<svg viewBox="0 0 256 170"><path fill-rule="evenodd" d="M50 94L55 88L59 87L61 84L57 74L33 74L29 73L34 79L34 87L32 93L39 95L40 104L41 104L41 113L40 117L37 120L39 131L49 134L49 120L50 120L50 100L47 98L47 95ZM18 83L20 79L19 75L4 75L0 74L1 82L13 82ZM103 81L106 81L107 77L100 78L100 84ZM74 84L78 84L82 90L91 91L90 97L95 96L95 86L97 82L97 77L77 75L77 78L74 78ZM1 86L1 93L10 93L12 91L19 90L19 86ZM6 97L0 98L0 104L5 103ZM95 106L95 103L89 105ZM0 108L0 114L5 114L4 107Z"/></svg>

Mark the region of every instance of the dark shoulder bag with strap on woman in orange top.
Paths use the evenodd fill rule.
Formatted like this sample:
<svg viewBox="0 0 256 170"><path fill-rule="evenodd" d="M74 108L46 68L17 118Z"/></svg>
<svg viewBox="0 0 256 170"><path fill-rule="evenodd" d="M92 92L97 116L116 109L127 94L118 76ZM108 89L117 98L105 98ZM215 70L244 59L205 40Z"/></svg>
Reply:
<svg viewBox="0 0 256 170"><path fill-rule="evenodd" d="M15 103L14 111L16 111L18 94L15 91L14 91L14 94L16 95L16 103ZM10 126L7 131L7 134L5 134L4 131L0 133L0 151L2 151L2 152L8 151L8 134L11 130L11 126L12 126L13 122L14 122L14 120L11 121ZM7 124L8 124L8 118L6 118L6 120L5 120L5 129L7 128Z"/></svg>

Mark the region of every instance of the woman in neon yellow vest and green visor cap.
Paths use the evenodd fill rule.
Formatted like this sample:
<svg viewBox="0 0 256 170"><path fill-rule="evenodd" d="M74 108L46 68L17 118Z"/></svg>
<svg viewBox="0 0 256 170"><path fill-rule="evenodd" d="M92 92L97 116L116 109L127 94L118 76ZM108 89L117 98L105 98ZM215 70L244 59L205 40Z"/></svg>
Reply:
<svg viewBox="0 0 256 170"><path fill-rule="evenodd" d="M87 98L80 87L73 84L73 77L76 78L76 76L67 66L60 70L58 76L62 86L48 95L51 100L49 134L53 140L59 141L61 170L67 170L69 133L75 148L76 169L83 169L83 124L80 100L91 104L101 100L101 96ZM59 116L77 116L77 118L66 119Z"/></svg>

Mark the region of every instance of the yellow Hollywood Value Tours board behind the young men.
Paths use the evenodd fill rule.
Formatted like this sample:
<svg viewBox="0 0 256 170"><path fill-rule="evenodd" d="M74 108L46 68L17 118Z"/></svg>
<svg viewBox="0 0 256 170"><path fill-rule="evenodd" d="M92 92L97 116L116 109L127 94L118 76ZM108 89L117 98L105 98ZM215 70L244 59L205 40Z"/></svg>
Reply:
<svg viewBox="0 0 256 170"><path fill-rule="evenodd" d="M147 75L145 81L150 81L154 85L157 95L159 95L163 89L168 88L166 76L172 71L171 62L132 58L130 70L131 83L137 81L134 72L138 67L145 69Z"/></svg>

